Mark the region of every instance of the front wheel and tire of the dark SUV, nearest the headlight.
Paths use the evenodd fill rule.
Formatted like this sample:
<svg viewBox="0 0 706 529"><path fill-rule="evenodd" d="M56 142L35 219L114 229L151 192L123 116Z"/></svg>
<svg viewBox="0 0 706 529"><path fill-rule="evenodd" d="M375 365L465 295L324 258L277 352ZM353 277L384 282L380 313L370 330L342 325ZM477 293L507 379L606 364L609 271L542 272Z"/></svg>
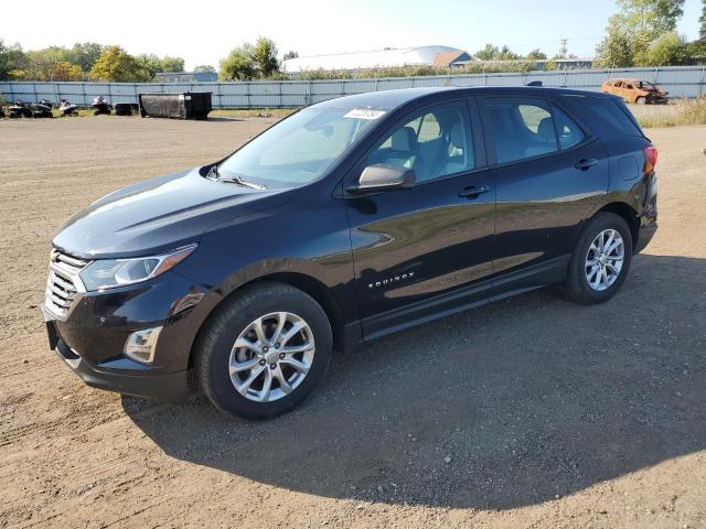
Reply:
<svg viewBox="0 0 706 529"><path fill-rule="evenodd" d="M329 319L291 285L259 282L225 302L195 344L196 380L221 411L268 419L299 406L333 356Z"/></svg>

